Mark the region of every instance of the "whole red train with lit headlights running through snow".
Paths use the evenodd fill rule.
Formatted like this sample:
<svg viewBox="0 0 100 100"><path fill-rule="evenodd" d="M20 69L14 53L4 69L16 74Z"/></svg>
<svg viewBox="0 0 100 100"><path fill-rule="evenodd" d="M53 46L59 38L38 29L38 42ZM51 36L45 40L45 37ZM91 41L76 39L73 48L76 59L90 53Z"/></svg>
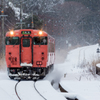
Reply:
<svg viewBox="0 0 100 100"><path fill-rule="evenodd" d="M44 31L20 29L6 33L6 64L11 79L39 79L53 69L55 39Z"/></svg>

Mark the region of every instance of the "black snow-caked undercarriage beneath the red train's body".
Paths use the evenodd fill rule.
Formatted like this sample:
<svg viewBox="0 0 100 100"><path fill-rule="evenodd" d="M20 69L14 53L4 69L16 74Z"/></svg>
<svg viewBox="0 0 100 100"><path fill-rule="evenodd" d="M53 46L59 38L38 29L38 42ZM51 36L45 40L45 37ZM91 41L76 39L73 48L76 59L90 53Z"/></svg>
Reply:
<svg viewBox="0 0 100 100"><path fill-rule="evenodd" d="M8 68L8 75L15 80L38 80L43 79L49 72L53 70L53 65L47 68L35 68L25 66L21 68Z"/></svg>

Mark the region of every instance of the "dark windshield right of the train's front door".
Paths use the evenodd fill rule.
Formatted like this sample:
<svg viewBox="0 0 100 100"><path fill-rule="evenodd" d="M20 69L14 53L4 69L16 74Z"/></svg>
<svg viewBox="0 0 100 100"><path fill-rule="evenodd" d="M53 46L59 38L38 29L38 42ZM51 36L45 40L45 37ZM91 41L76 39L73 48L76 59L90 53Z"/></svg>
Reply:
<svg viewBox="0 0 100 100"><path fill-rule="evenodd" d="M47 37L34 37L34 45L47 45Z"/></svg>

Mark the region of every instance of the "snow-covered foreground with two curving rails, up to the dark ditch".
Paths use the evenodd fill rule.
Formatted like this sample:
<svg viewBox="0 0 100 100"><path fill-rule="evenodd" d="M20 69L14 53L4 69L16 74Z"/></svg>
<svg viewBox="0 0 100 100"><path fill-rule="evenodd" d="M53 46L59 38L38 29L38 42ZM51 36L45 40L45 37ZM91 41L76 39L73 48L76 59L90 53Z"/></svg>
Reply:
<svg viewBox="0 0 100 100"><path fill-rule="evenodd" d="M0 100L66 100L47 80L2 80L0 92Z"/></svg>

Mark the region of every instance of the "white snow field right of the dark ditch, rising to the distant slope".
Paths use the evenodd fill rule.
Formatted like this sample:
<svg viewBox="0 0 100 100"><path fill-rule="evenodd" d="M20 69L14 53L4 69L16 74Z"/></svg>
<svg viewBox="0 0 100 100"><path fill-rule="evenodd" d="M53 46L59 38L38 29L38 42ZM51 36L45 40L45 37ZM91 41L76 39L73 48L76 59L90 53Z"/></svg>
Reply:
<svg viewBox="0 0 100 100"><path fill-rule="evenodd" d="M76 93L79 100L100 100L100 76L93 64L99 60L97 48L98 44L72 50L61 65L60 85L68 93Z"/></svg>

